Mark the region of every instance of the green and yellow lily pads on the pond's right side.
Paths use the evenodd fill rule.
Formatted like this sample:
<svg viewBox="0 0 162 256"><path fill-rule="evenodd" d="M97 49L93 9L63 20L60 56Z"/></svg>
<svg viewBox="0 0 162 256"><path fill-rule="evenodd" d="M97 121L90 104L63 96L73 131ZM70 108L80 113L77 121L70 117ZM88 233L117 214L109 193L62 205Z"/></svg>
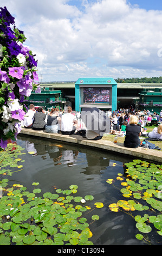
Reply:
<svg viewBox="0 0 162 256"><path fill-rule="evenodd" d="M148 163L141 160L133 160L133 162L126 163L126 178L120 175L117 180L124 180L121 182L122 186L120 192L123 197L131 198L131 200L119 200L117 203L109 205L111 211L145 211L144 216L137 215L134 220L137 222L137 229L144 234L150 233L152 230L157 230L157 234L162 235L162 165ZM107 182L113 184L114 182ZM147 214L148 212L148 214ZM139 240L148 241L142 234L135 236Z"/></svg>

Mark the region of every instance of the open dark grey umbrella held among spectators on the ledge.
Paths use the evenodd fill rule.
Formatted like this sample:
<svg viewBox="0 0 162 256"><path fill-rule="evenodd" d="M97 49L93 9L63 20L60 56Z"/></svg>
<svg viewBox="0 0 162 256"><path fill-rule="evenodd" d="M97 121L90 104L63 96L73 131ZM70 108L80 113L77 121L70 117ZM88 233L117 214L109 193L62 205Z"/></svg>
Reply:
<svg viewBox="0 0 162 256"><path fill-rule="evenodd" d="M88 130L95 131L100 136L103 136L103 133L110 132L110 119L99 108L82 108L81 119Z"/></svg>

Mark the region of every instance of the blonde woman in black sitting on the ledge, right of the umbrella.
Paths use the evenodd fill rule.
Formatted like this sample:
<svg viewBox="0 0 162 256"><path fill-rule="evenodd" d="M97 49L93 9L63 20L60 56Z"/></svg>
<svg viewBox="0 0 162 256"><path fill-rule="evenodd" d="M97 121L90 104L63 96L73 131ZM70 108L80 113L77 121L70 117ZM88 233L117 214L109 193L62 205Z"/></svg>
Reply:
<svg viewBox="0 0 162 256"><path fill-rule="evenodd" d="M141 127L137 124L137 115L131 115L129 125L126 126L126 137L124 141L124 145L127 148L138 148L140 145L139 136L141 135Z"/></svg>

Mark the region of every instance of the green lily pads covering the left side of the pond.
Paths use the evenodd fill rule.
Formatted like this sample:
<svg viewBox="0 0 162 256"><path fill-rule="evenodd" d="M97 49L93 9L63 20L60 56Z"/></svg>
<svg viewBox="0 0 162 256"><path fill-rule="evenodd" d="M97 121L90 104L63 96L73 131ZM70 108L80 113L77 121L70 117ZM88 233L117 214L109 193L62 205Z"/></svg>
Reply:
<svg viewBox="0 0 162 256"><path fill-rule="evenodd" d="M1 151L0 170L12 165L18 168L17 163L21 161L18 156L23 154L23 149L15 146L12 151L12 147L9 145L6 151ZM1 174L12 175L12 172L3 169ZM8 181L0 181L3 193L0 198L0 245L93 245L89 241L93 234L83 216L91 209L85 206L86 200L93 200L93 196L85 196L86 200L74 197L77 185L71 185L68 190L58 189L54 194L46 192L38 197L41 193L41 189L36 188L38 182L33 182L34 189L29 192L21 184L9 186ZM95 205L103 207L102 203ZM93 215L92 220L99 220L99 216Z"/></svg>

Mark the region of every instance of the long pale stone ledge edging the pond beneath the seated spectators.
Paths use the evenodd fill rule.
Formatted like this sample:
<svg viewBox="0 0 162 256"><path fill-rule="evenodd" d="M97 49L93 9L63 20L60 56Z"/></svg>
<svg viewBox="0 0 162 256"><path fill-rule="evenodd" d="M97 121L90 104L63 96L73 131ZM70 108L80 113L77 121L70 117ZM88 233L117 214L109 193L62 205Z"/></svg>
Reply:
<svg viewBox="0 0 162 256"><path fill-rule="evenodd" d="M106 141L100 139L99 141L89 141L86 138L82 138L79 135L62 135L61 133L47 133L46 131L34 131L32 129L22 128L21 134L55 139L57 141L69 142L74 144L85 145L86 147L93 147L104 149L107 151L115 151L125 155L130 155L146 161L162 162L162 152L159 150L148 149L138 147L137 149L125 148L123 143L114 143L112 141Z"/></svg>

